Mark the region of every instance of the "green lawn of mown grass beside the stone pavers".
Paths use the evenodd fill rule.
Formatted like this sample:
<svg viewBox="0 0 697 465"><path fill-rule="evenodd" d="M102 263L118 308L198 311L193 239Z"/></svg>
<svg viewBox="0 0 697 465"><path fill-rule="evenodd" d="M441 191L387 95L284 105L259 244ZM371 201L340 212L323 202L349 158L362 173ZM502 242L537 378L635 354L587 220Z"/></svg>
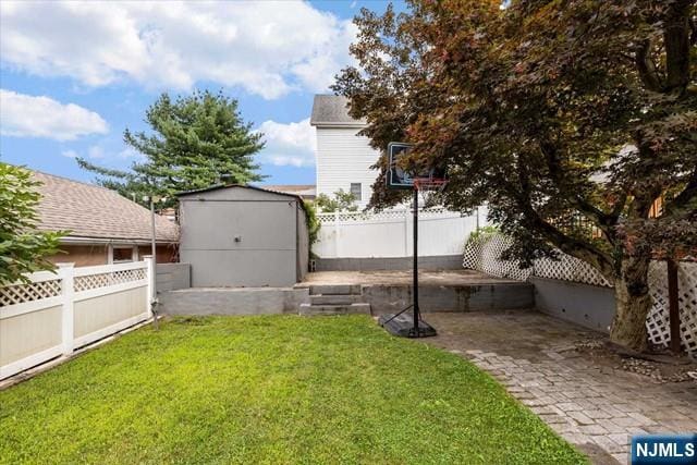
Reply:
<svg viewBox="0 0 697 465"><path fill-rule="evenodd" d="M0 392L0 463L586 463L470 363L367 317L184 318Z"/></svg>

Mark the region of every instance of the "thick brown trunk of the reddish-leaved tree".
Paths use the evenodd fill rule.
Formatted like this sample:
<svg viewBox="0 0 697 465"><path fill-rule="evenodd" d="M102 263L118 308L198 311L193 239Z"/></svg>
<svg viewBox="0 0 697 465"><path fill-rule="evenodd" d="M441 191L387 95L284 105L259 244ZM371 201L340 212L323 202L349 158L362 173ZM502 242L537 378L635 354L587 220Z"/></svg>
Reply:
<svg viewBox="0 0 697 465"><path fill-rule="evenodd" d="M646 317L651 308L649 262L650 257L623 260L621 276L614 281L616 313L610 328L610 340L638 352L648 345Z"/></svg>

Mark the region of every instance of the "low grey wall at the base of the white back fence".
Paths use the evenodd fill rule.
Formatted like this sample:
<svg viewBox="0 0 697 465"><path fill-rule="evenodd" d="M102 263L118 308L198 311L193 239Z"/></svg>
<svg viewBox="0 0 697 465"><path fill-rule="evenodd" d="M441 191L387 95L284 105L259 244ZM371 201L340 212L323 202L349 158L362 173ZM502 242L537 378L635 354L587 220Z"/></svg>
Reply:
<svg viewBox="0 0 697 465"><path fill-rule="evenodd" d="M411 270L413 262L412 257L318 258L315 266L316 271ZM462 255L418 257L418 267L423 270L461 270Z"/></svg>

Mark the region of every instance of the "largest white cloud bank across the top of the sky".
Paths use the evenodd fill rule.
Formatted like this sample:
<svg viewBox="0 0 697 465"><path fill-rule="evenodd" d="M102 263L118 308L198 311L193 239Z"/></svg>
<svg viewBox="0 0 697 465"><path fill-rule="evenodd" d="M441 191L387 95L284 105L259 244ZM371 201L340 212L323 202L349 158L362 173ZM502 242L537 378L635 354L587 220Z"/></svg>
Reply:
<svg viewBox="0 0 697 465"><path fill-rule="evenodd" d="M2 2L5 66L87 86L133 79L326 91L356 29L306 2Z"/></svg>

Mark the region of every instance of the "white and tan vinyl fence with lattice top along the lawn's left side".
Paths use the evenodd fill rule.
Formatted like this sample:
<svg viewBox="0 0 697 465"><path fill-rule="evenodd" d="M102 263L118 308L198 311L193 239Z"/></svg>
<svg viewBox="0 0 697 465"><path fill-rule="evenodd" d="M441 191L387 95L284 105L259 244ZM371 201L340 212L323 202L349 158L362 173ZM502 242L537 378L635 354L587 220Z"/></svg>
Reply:
<svg viewBox="0 0 697 465"><path fill-rule="evenodd" d="M62 264L0 287L0 379L150 318L152 267Z"/></svg>

